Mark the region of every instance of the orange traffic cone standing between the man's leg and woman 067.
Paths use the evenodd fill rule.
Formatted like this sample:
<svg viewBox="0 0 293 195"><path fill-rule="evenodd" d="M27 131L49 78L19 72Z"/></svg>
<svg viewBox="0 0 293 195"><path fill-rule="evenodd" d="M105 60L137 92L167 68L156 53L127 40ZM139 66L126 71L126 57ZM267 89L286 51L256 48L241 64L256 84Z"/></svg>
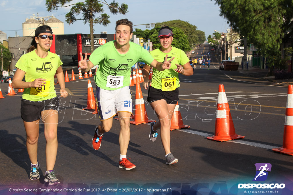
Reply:
<svg viewBox="0 0 293 195"><path fill-rule="evenodd" d="M134 121L130 121L131 124L138 125L147 122L153 122L155 120L149 120L147 117L147 111L144 106L144 99L142 97L142 90L140 89L139 82L136 83L135 92L135 107L134 107Z"/></svg>

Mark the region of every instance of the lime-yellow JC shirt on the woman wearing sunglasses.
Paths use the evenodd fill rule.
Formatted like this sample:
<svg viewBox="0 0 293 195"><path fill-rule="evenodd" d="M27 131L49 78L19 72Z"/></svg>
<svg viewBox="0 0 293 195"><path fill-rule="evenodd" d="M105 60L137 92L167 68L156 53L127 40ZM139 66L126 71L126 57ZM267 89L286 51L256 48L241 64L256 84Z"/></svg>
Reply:
<svg viewBox="0 0 293 195"><path fill-rule="evenodd" d="M44 90L44 86L40 90L30 87L23 90L22 98L30 101L43 101L56 97L54 75L56 74L57 68L62 64L59 56L50 51L48 51L48 55L45 58L40 58L35 50L22 55L15 67L25 72L25 82L31 82L39 78L50 81L50 85L45 84L46 93L43 95L38 94L38 92Z"/></svg>

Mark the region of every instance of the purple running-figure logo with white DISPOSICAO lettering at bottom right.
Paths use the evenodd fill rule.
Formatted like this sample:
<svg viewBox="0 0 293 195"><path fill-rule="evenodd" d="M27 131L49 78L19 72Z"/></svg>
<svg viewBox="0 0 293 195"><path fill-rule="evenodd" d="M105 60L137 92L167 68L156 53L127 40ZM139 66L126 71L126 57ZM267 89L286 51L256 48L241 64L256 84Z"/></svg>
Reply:
<svg viewBox="0 0 293 195"><path fill-rule="evenodd" d="M271 171L272 165L270 163L255 163L256 173L252 181L262 182L267 180L268 171ZM285 184L270 183L270 184L238 184L238 189L244 188L262 188L262 189L283 189Z"/></svg>

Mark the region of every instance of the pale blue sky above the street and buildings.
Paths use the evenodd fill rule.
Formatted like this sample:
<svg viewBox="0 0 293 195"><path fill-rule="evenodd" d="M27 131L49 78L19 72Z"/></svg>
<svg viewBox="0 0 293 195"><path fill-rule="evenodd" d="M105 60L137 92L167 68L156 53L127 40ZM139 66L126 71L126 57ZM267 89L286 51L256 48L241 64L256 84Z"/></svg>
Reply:
<svg viewBox="0 0 293 195"><path fill-rule="evenodd" d="M108 3L112 0L106 0ZM108 34L115 33L115 22L122 18L128 18L134 25L164 22L169 20L183 20L192 25L197 26L197 30L205 32L206 37L214 30L225 32L229 25L226 20L219 16L219 7L212 0L116 0L119 4L125 2L128 5L128 13L126 15L110 14L104 6L105 13L110 15L110 25L95 25L95 34L100 31L107 31ZM81 2L81 0L73 0L72 2ZM83 24L77 21L72 25L65 22L65 14L70 8L59 8L57 11L48 12L45 7L45 0L0 0L0 30L7 34L7 38L15 37L22 34L22 23L25 18L29 18L33 14L39 16L54 15L56 18L64 22L64 34L89 34L89 24ZM77 16L76 18L80 18ZM225 27L226 25L226 27ZM145 25L135 26L145 30ZM148 28L149 30L151 28Z"/></svg>

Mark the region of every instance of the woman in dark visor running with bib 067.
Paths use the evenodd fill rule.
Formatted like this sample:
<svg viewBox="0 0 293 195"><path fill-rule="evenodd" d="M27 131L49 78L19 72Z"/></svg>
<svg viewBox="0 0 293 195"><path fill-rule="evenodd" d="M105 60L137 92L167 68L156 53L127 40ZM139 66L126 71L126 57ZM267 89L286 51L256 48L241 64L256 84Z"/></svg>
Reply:
<svg viewBox="0 0 293 195"><path fill-rule="evenodd" d="M144 65L143 68L143 87L148 91L147 101L158 116L158 122L151 122L151 132L149 138L151 141L155 141L157 138L157 131L160 129L161 141L165 150L166 164L171 165L178 162L170 150L170 127L171 118L179 100L179 77L178 73L185 76L193 75L193 68L189 63L189 59L185 52L173 47L173 32L170 27L164 26L159 30L159 42L161 46L154 51L151 51L153 58L159 62L167 58L173 58L171 61L171 67L168 70L158 71L154 68L152 80L149 80L149 65ZM167 55L166 55L167 54ZM177 65L179 68L177 68Z"/></svg>

